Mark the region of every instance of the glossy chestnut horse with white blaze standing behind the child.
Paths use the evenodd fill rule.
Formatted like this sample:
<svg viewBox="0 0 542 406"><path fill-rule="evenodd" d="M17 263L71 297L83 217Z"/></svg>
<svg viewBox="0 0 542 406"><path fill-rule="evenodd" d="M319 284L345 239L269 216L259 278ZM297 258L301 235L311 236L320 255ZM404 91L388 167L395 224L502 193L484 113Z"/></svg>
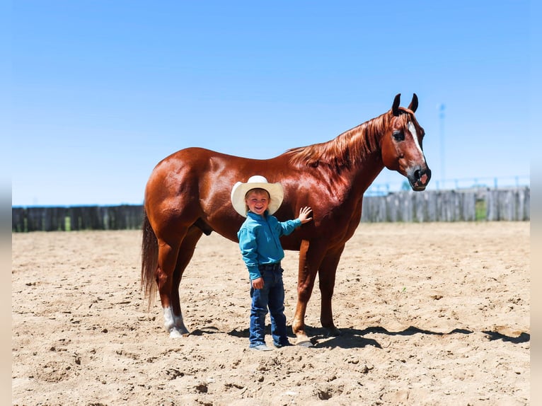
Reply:
<svg viewBox="0 0 542 406"><path fill-rule="evenodd" d="M364 192L384 168L405 176L415 191L425 190L431 178L417 106L414 93L408 108L400 107L399 93L384 114L335 139L288 149L275 158L242 158L190 147L160 161L144 194L141 284L149 307L158 290L170 337L189 335L179 286L196 244L212 231L238 242L244 217L233 209L230 193L237 181L246 182L251 175L282 184L284 200L277 219L294 219L304 206L313 211L313 221L281 241L284 250L299 251L292 320L296 344L311 346L304 320L316 274L321 325L328 335L340 335L331 306L335 274L345 243L360 223Z"/></svg>

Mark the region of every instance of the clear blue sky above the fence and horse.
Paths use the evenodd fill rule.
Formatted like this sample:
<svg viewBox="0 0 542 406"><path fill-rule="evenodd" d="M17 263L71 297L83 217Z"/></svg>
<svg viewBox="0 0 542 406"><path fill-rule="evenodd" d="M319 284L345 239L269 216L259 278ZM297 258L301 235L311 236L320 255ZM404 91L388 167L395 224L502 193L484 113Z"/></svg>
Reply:
<svg viewBox="0 0 542 406"><path fill-rule="evenodd" d="M528 183L530 7L13 1L0 105L12 204L141 204L174 151L271 158L386 112L397 93L420 99L431 187ZM385 169L375 185L401 182Z"/></svg>

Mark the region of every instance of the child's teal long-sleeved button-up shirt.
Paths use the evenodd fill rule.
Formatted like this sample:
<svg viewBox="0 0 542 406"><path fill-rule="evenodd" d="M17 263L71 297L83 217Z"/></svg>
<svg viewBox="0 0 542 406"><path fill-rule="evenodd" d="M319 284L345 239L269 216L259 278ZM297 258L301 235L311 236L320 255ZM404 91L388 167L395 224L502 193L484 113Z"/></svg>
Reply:
<svg viewBox="0 0 542 406"><path fill-rule="evenodd" d="M265 217L248 211L237 238L250 280L261 277L258 265L275 264L284 258L279 238L291 234L299 226L299 219L278 221L267 211Z"/></svg>

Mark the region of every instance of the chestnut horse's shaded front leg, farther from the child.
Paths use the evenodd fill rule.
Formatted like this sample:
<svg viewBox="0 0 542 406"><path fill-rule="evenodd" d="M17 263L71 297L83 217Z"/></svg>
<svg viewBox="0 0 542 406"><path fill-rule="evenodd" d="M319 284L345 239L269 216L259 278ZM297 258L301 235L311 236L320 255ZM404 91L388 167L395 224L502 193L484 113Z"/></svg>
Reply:
<svg viewBox="0 0 542 406"><path fill-rule="evenodd" d="M335 327L333 323L333 308L331 306L331 299L333 298L333 291L335 289L335 274L337 273L337 267L339 265L340 255L344 245L340 250L334 253L328 253L320 265L318 270L318 283L321 292L321 308L320 308L320 322L325 330L328 330L328 335L337 337L341 334L340 330Z"/></svg>

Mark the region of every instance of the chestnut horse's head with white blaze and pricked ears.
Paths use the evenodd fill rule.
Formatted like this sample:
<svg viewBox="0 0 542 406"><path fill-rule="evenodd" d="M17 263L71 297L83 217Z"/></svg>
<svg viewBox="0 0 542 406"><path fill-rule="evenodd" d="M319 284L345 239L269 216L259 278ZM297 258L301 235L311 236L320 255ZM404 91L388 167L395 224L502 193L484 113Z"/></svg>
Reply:
<svg viewBox="0 0 542 406"><path fill-rule="evenodd" d="M388 112L389 124L381 139L382 161L386 168L405 176L413 190L425 190L431 170L422 148L425 132L414 115L417 95L414 93L408 108L399 107L399 103L400 94L396 95Z"/></svg>

